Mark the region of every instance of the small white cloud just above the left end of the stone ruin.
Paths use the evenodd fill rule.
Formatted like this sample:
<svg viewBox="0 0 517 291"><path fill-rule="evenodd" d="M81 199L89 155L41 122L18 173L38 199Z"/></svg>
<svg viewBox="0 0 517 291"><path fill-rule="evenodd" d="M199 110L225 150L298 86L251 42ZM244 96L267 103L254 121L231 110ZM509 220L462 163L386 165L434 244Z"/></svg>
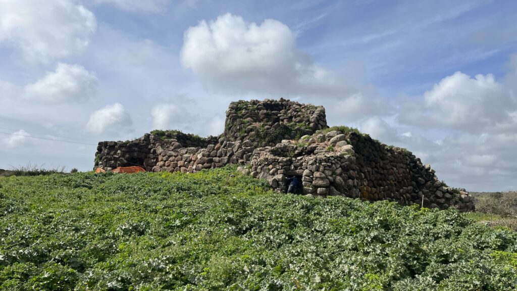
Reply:
<svg viewBox="0 0 517 291"><path fill-rule="evenodd" d="M86 124L86 130L93 134L105 132L126 132L132 125L131 117L120 103L107 105L94 111Z"/></svg>

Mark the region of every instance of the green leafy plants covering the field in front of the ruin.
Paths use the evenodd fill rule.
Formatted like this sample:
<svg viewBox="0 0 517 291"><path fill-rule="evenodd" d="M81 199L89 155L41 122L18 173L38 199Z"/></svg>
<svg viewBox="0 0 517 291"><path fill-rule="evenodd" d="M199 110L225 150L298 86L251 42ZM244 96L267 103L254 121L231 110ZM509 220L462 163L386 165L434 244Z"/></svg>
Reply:
<svg viewBox="0 0 517 291"><path fill-rule="evenodd" d="M2 290L515 290L517 232L235 167L0 178Z"/></svg>

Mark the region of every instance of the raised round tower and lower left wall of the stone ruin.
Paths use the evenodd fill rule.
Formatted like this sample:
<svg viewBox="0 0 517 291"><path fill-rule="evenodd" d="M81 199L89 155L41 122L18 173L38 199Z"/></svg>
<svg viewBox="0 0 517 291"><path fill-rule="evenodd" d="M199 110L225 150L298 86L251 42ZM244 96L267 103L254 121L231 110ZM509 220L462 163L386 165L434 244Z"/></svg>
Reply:
<svg viewBox="0 0 517 291"><path fill-rule="evenodd" d="M148 171L195 172L246 164L258 147L327 127L323 106L284 99L240 100L232 102L226 111L225 130L219 137L155 130L132 141L102 141L94 168L138 165Z"/></svg>

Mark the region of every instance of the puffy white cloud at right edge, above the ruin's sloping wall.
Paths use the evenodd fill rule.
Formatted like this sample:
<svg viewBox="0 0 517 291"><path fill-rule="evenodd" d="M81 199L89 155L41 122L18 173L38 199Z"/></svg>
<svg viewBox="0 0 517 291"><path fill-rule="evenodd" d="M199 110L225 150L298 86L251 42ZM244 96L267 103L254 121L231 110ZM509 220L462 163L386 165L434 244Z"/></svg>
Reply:
<svg viewBox="0 0 517 291"><path fill-rule="evenodd" d="M403 106L400 121L424 128L479 132L512 122L510 114L515 110L517 103L509 90L493 75L471 78L455 72L425 92L422 99Z"/></svg>

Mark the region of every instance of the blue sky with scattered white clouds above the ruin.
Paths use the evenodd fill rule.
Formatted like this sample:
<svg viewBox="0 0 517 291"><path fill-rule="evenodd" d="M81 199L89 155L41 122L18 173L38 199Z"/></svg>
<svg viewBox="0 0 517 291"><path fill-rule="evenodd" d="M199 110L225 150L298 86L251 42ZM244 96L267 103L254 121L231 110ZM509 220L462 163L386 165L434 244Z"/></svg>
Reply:
<svg viewBox="0 0 517 291"><path fill-rule="evenodd" d="M0 168L223 132L233 100L323 105L468 191L517 190L517 2L0 0Z"/></svg>

